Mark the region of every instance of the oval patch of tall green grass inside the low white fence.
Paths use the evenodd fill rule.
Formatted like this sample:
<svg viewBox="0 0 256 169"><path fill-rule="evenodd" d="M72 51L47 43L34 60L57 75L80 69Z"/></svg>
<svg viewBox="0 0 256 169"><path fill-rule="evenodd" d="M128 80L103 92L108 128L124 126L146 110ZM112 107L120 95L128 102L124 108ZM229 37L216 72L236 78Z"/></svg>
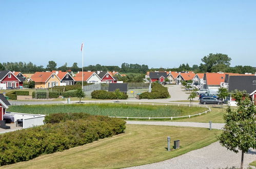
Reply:
<svg viewBox="0 0 256 169"><path fill-rule="evenodd" d="M116 117L175 117L206 111L206 108L176 105L126 105L126 104L51 104L51 105L12 105L9 112L30 114L89 113Z"/></svg>

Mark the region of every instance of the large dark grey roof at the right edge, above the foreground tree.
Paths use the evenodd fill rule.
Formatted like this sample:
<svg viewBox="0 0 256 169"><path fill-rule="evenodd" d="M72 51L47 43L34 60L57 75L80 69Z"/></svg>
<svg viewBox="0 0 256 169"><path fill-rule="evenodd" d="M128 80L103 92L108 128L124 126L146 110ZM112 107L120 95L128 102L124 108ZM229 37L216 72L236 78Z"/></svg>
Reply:
<svg viewBox="0 0 256 169"><path fill-rule="evenodd" d="M228 85L229 91L246 90L250 94L256 90L256 76L229 76Z"/></svg>

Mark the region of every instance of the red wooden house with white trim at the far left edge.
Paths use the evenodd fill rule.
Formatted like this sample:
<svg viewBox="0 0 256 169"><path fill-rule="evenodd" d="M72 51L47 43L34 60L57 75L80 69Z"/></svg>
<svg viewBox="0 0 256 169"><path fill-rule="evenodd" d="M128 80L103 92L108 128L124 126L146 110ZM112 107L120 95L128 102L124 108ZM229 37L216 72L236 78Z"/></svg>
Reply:
<svg viewBox="0 0 256 169"><path fill-rule="evenodd" d="M6 89L9 87L18 88L19 80L11 71L4 70L0 72L0 83L4 83Z"/></svg>

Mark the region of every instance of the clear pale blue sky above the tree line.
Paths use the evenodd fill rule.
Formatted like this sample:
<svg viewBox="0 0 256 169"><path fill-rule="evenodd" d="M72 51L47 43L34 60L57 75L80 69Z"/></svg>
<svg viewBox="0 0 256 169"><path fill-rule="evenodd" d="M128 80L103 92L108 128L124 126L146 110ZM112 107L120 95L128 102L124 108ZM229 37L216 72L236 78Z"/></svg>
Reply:
<svg viewBox="0 0 256 169"><path fill-rule="evenodd" d="M3 1L0 62L57 67L200 64L224 53L256 66L256 1Z"/></svg>

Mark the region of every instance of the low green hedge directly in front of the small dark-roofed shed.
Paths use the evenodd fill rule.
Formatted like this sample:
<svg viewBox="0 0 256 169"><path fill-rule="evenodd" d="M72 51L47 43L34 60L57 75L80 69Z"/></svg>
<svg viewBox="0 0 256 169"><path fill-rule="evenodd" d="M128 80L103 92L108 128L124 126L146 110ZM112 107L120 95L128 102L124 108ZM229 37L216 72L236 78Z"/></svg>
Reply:
<svg viewBox="0 0 256 169"><path fill-rule="evenodd" d="M95 90L91 92L91 97L95 99L117 99L117 96L114 92L108 92L105 90ZM119 99L127 99L128 95L122 93Z"/></svg>

